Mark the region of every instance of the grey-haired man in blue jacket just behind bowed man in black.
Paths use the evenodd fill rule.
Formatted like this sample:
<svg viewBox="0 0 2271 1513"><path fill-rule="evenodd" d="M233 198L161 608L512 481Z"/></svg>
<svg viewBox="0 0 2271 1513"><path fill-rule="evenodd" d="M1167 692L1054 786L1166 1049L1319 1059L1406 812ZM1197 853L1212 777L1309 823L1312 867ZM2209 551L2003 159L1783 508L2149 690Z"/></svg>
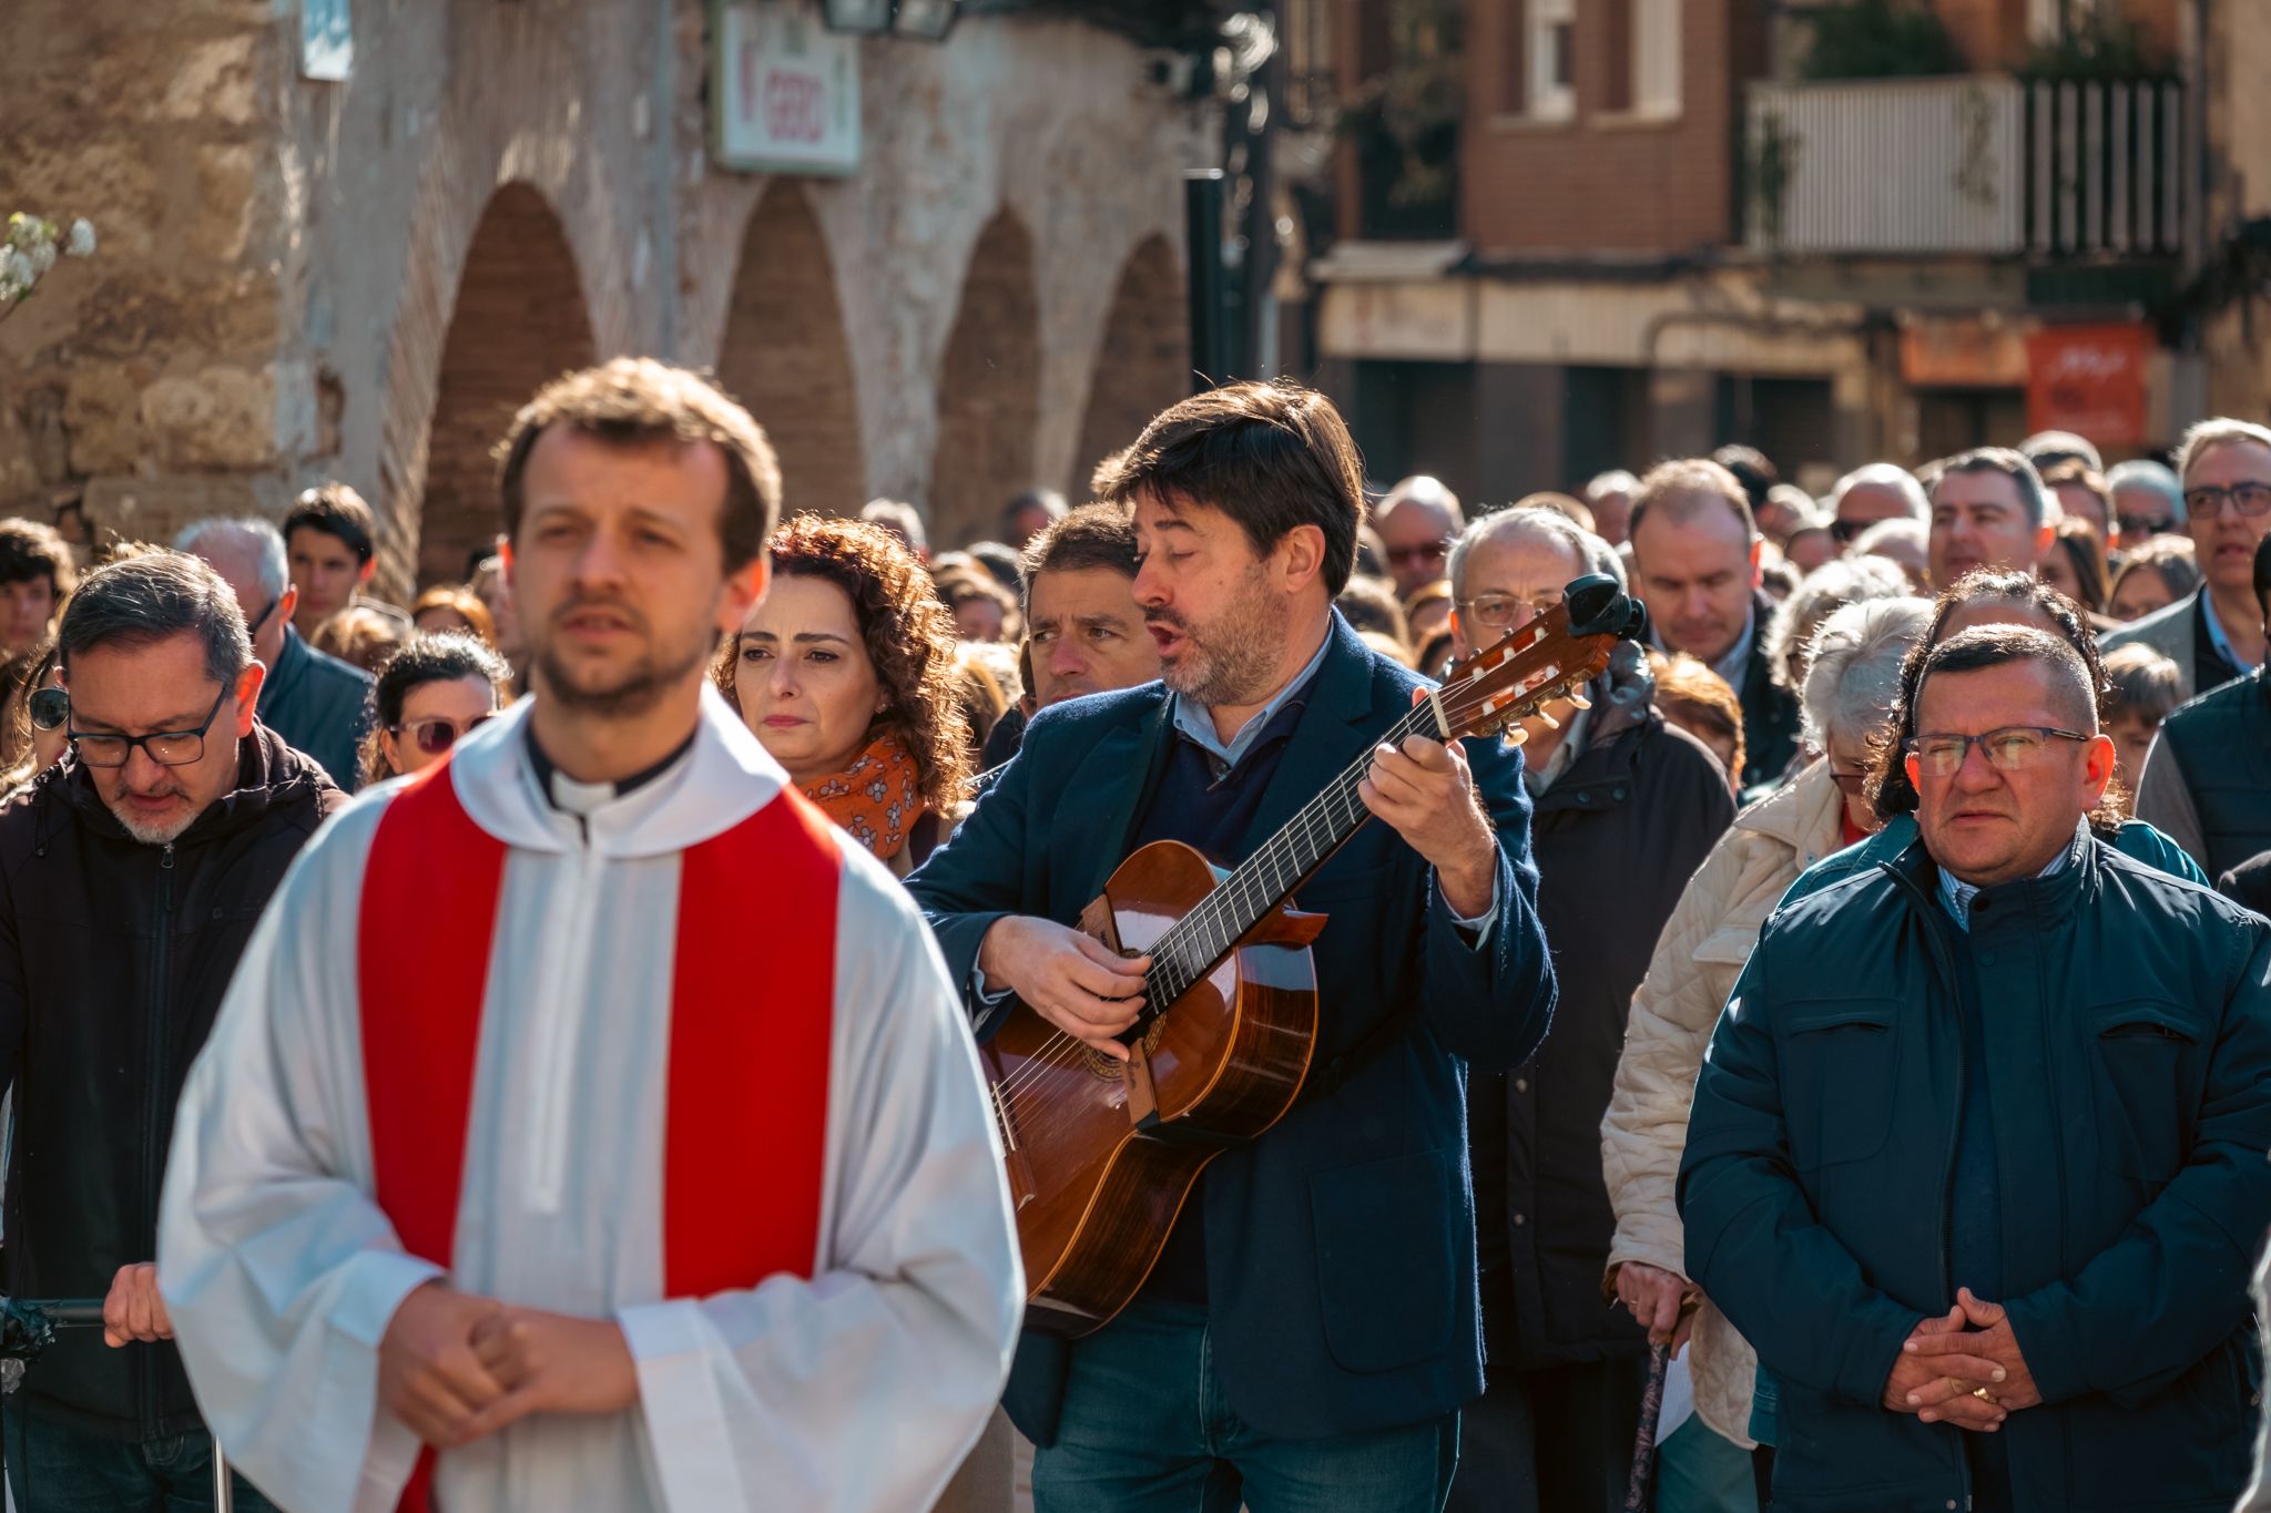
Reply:
<svg viewBox="0 0 2271 1513"><path fill-rule="evenodd" d="M266 519L200 519L173 542L211 563L236 594L252 631L252 656L268 669L261 724L316 758L350 794L363 780L370 674L316 651L293 624L300 590L284 560L284 535Z"/></svg>

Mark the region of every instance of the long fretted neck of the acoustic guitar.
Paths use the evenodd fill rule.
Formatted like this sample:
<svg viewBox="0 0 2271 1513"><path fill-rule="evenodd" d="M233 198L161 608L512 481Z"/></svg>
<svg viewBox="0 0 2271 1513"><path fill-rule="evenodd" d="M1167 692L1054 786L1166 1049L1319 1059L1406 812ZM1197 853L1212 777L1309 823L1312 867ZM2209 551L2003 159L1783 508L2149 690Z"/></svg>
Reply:
<svg viewBox="0 0 2271 1513"><path fill-rule="evenodd" d="M1372 746L1401 746L1408 735L1438 735L1428 703L1415 705L1385 735L1369 742L1338 778L1324 785L1324 792L1279 826L1260 851L1240 862L1195 910L1158 937L1151 946L1145 1018L1163 1014L1190 991L1245 939L1247 930L1276 914L1292 891L1372 819L1356 792L1372 769Z"/></svg>

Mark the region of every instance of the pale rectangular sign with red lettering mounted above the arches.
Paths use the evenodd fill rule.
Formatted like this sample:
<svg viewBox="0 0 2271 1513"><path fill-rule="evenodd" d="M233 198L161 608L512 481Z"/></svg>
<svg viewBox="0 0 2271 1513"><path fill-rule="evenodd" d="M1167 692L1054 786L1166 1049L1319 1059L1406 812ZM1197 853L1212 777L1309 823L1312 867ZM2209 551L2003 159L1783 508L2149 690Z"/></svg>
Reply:
<svg viewBox="0 0 2271 1513"><path fill-rule="evenodd" d="M756 172L858 172L858 39L811 0L720 0L711 11L715 159Z"/></svg>

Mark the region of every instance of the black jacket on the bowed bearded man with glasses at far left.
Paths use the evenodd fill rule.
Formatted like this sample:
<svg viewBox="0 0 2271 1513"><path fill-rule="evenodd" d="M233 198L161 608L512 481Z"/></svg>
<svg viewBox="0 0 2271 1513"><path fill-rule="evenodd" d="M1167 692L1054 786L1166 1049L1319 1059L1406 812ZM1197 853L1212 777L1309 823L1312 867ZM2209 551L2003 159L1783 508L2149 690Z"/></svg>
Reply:
<svg viewBox="0 0 2271 1513"><path fill-rule="evenodd" d="M16 1089L7 1291L102 1298L157 1257L188 1064L284 869L345 794L266 726L170 846L129 837L77 760L0 803L0 1084ZM173 1345L68 1329L16 1400L114 1438L200 1427Z"/></svg>

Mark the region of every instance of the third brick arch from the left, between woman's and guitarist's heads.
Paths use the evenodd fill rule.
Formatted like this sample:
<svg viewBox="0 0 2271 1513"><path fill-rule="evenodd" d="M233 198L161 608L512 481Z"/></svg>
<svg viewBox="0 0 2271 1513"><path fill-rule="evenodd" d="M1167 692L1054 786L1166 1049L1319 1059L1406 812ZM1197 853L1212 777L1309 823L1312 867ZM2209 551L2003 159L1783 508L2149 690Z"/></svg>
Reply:
<svg viewBox="0 0 2271 1513"><path fill-rule="evenodd" d="M1040 302L1033 236L1002 211L979 234L938 367L931 540L961 547L995 533L1002 506L1033 485L1040 426Z"/></svg>

